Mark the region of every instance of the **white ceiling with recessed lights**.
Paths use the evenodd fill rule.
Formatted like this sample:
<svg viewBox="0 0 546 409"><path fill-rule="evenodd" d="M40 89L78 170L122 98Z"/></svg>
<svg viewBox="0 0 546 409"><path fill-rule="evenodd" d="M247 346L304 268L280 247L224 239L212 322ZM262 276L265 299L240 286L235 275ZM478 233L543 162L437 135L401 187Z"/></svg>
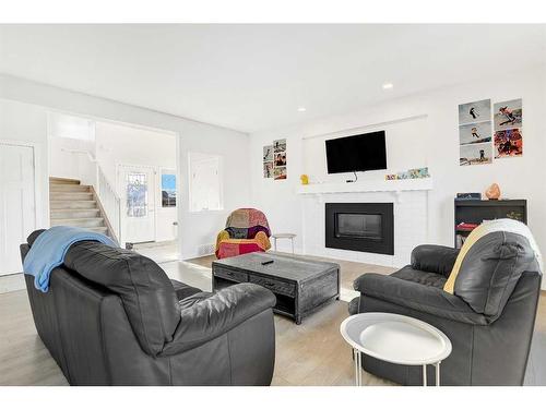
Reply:
<svg viewBox="0 0 546 409"><path fill-rule="evenodd" d="M546 25L0 26L0 72L246 132L545 58Z"/></svg>

